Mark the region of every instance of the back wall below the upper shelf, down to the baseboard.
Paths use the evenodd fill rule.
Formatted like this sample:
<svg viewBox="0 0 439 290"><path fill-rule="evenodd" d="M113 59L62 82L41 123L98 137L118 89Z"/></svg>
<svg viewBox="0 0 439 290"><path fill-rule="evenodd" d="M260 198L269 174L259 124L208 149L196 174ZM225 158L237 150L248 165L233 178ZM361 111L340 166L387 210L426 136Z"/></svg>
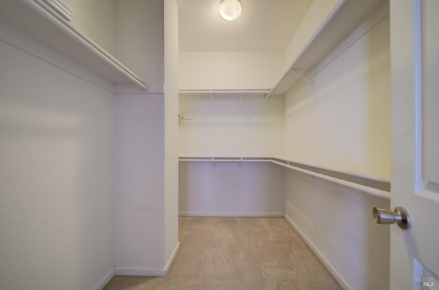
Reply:
<svg viewBox="0 0 439 290"><path fill-rule="evenodd" d="M283 153L283 99L180 97L180 156ZM180 215L283 214L282 168L270 163L180 162Z"/></svg>

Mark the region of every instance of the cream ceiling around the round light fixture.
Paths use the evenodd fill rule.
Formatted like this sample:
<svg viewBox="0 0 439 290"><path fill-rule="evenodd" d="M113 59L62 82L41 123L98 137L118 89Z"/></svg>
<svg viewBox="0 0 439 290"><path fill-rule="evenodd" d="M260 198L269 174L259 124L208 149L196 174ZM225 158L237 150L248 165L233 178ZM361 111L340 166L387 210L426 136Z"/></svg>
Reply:
<svg viewBox="0 0 439 290"><path fill-rule="evenodd" d="M241 0L235 21L219 16L221 0L177 0L180 51L283 50L312 0Z"/></svg>

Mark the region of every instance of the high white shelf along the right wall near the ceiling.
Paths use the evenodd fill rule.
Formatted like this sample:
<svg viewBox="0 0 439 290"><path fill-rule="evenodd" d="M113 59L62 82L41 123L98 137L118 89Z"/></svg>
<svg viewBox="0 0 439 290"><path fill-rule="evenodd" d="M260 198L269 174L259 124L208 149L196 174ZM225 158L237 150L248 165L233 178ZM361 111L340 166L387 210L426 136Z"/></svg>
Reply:
<svg viewBox="0 0 439 290"><path fill-rule="evenodd" d="M302 24L304 25L298 28L296 34L299 36L309 34L309 38L307 38L307 41L305 41L301 49L297 49L296 47L298 52L295 56L292 56L292 61L285 65L284 75L278 79L278 82L276 82L274 88L272 88L270 93L268 93L265 97L272 95L285 95L285 93L287 93L287 91L292 88L292 86L294 86L298 80L303 80L305 82L311 80L321 69L326 67L333 59L337 57L337 55L335 55L334 58L325 60L324 64L319 64L325 58L325 56L333 51L337 45L340 45L340 43L342 43L343 40L349 34L351 34L356 27L358 27L358 25L365 21L374 10L377 10L380 5L383 5L382 0L337 1L331 12L327 15L326 19L322 21L317 29L314 29L312 34L309 34L307 29L309 29L309 26L311 26L308 24L313 21L313 15L309 14L308 19L305 16L304 20L302 21ZM306 23L306 21L309 22ZM349 47L355 43L359 37L361 37L361 34L357 36L357 38L351 40L351 43L344 43L344 47ZM303 38L296 41L296 43L294 43L294 40L295 39L293 38L292 50L294 50L294 45L296 43L303 41ZM292 43L290 43L290 45ZM287 57L286 54L285 56Z"/></svg>

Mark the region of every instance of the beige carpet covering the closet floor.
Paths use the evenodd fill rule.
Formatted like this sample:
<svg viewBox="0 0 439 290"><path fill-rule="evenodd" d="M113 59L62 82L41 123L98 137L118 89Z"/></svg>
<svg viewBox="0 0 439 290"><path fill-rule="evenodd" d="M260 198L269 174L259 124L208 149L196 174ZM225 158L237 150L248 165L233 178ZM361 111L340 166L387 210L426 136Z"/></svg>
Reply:
<svg viewBox="0 0 439 290"><path fill-rule="evenodd" d="M180 251L167 276L115 276L104 289L341 289L283 218L179 223Z"/></svg>

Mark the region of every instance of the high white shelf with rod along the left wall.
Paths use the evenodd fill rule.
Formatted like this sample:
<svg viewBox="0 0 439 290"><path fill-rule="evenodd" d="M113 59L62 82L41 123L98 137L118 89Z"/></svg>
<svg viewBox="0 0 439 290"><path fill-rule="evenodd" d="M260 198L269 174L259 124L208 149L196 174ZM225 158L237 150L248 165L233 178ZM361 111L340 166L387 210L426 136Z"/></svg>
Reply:
<svg viewBox="0 0 439 290"><path fill-rule="evenodd" d="M137 84L147 90L135 73L42 0L2 0L0 19L114 84Z"/></svg>

